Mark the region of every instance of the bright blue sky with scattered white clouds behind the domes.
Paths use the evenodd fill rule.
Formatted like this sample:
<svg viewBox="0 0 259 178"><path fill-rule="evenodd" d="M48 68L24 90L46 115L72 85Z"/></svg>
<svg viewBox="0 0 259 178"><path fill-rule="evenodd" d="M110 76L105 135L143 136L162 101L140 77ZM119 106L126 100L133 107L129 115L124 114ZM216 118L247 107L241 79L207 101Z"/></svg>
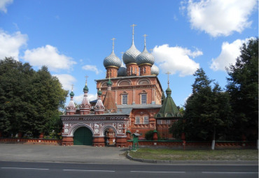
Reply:
<svg viewBox="0 0 259 178"><path fill-rule="evenodd" d="M96 99L94 80L103 79L103 61L112 52L121 59L134 44L146 47L159 67L158 79L182 107L192 93L193 73L203 68L225 89L240 47L258 37L257 0L0 0L0 59L14 57L34 70L48 66L64 89ZM69 97L67 101L69 101Z"/></svg>

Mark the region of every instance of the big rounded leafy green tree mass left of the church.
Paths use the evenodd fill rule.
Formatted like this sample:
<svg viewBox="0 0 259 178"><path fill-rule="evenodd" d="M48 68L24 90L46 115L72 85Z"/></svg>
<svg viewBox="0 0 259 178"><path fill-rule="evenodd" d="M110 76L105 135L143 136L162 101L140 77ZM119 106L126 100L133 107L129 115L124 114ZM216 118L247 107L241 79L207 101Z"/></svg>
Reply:
<svg viewBox="0 0 259 178"><path fill-rule="evenodd" d="M13 58L0 60L0 131L37 137L57 126L60 130L57 116L66 95L67 91L47 67L34 71L28 63Z"/></svg>

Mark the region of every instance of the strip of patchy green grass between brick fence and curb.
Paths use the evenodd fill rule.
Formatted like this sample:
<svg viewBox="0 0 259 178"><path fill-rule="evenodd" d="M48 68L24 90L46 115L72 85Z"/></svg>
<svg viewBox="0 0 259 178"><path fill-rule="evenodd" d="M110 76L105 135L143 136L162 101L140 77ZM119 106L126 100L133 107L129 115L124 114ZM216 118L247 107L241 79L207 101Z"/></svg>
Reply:
<svg viewBox="0 0 259 178"><path fill-rule="evenodd" d="M140 148L134 158L169 161L258 161L257 149L174 150Z"/></svg>

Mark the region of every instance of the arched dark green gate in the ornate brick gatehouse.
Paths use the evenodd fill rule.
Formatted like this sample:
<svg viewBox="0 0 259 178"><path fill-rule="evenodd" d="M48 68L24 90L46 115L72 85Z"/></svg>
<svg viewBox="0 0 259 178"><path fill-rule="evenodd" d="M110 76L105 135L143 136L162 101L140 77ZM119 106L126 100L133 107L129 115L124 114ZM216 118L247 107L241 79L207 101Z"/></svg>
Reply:
<svg viewBox="0 0 259 178"><path fill-rule="evenodd" d="M80 127L73 133L73 145L92 145L92 132L89 128Z"/></svg>

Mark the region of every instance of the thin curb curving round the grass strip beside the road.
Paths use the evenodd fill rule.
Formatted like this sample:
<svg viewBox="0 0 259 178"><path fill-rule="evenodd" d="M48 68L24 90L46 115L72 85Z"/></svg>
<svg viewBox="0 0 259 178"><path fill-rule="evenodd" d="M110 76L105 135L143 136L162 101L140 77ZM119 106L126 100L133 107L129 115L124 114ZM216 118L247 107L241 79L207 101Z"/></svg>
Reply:
<svg viewBox="0 0 259 178"><path fill-rule="evenodd" d="M151 160L151 159L141 159L133 158L130 156L130 152L127 152L126 157L131 161L139 161L142 163L158 163L158 164L196 164L196 165L258 165L258 161L169 161L169 160Z"/></svg>

